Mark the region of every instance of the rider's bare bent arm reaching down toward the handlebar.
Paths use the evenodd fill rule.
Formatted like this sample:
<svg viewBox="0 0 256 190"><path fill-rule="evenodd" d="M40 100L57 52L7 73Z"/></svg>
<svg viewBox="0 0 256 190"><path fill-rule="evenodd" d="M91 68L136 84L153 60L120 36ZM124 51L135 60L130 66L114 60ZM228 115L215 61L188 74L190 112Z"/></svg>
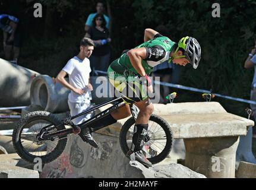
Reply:
<svg viewBox="0 0 256 190"><path fill-rule="evenodd" d="M145 47L131 49L127 52L127 55L129 56L129 60L131 61L132 66L141 76L146 75L146 72L143 66L141 65L141 59L146 58L146 53L147 52Z"/></svg>

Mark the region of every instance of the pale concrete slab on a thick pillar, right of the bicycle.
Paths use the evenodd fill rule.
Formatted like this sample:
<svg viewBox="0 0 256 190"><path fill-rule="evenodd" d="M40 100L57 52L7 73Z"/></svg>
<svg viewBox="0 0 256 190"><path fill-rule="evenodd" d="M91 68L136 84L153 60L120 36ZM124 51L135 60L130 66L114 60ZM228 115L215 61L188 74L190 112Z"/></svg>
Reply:
<svg viewBox="0 0 256 190"><path fill-rule="evenodd" d="M155 106L169 122L175 138L185 143L185 166L207 178L235 178L239 136L254 122L227 113L217 102Z"/></svg>

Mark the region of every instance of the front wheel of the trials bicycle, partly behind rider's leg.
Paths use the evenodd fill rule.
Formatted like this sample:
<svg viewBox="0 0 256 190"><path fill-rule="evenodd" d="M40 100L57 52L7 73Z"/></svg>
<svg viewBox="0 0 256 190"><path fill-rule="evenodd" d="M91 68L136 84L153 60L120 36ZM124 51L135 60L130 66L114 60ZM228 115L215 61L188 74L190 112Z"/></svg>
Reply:
<svg viewBox="0 0 256 190"><path fill-rule="evenodd" d="M120 131L120 145L124 154L131 147L134 133L134 118L129 118ZM143 142L143 150L147 159L156 164L164 160L172 150L173 135L169 124L160 116L152 114L148 121L146 140Z"/></svg>

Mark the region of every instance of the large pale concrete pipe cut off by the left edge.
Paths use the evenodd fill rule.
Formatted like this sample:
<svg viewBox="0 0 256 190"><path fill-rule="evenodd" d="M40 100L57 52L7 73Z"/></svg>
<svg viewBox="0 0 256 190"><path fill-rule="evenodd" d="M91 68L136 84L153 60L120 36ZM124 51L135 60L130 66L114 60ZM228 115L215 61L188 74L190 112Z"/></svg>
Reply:
<svg viewBox="0 0 256 190"><path fill-rule="evenodd" d="M0 58L0 107L30 105L30 85L38 72Z"/></svg>

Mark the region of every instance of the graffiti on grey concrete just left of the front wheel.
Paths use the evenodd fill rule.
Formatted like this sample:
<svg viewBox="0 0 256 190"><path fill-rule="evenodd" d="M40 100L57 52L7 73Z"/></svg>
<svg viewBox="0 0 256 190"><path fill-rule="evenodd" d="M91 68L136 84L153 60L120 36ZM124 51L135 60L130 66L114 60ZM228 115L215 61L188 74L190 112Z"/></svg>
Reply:
<svg viewBox="0 0 256 190"><path fill-rule="evenodd" d="M98 144L98 148L91 147L90 156L94 160L106 160L113 150L113 144L110 142L103 142Z"/></svg>

